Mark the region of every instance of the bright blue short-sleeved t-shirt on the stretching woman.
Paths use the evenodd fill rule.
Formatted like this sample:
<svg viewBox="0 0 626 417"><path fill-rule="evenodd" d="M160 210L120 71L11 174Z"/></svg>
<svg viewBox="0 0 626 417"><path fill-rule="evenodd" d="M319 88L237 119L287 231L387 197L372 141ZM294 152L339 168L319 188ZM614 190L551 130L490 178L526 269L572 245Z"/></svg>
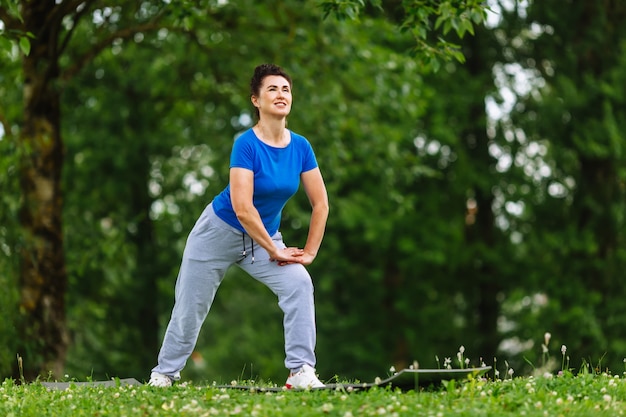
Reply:
<svg viewBox="0 0 626 417"><path fill-rule="evenodd" d="M230 154L231 168L245 168L254 173L252 202L270 236L278 231L283 207L300 186L300 174L317 168L309 141L289 133L289 145L275 148L248 129L235 139ZM213 209L220 219L245 232L230 201L230 184L213 199Z"/></svg>

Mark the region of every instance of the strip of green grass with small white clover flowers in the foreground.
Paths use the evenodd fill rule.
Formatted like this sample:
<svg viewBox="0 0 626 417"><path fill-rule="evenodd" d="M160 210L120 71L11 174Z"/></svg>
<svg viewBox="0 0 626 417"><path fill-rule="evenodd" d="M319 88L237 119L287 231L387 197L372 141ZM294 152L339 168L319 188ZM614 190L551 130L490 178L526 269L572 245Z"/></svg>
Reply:
<svg viewBox="0 0 626 417"><path fill-rule="evenodd" d="M283 391L275 393L179 384L0 386L0 416L620 416L626 378L585 373L443 383L437 389L401 392Z"/></svg>

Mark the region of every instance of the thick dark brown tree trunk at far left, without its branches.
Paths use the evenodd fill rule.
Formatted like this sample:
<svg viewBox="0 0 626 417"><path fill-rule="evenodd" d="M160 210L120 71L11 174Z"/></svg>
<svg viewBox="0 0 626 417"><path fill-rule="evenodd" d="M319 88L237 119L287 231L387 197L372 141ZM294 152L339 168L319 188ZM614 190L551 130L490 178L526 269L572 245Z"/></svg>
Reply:
<svg viewBox="0 0 626 417"><path fill-rule="evenodd" d="M21 147L20 254L21 349L24 377L60 376L67 351L67 275L62 234L60 92L55 25L46 19L54 2L25 2L26 31L36 35L23 60L24 119ZM15 370L19 372L18 369Z"/></svg>

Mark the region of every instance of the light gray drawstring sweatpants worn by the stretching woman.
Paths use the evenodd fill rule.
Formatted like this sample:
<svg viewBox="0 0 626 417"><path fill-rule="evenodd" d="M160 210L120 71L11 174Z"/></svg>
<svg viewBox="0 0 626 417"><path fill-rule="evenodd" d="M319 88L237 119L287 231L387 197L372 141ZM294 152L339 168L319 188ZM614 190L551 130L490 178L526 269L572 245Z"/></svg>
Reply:
<svg viewBox="0 0 626 417"><path fill-rule="evenodd" d="M277 247L285 247L280 232L272 239ZM315 366L313 283L306 268L300 264L278 266L270 262L265 249L217 217L209 204L187 238L172 316L153 372L180 379L180 371L193 352L215 293L233 264L278 297L284 313L285 367L295 370L304 364Z"/></svg>

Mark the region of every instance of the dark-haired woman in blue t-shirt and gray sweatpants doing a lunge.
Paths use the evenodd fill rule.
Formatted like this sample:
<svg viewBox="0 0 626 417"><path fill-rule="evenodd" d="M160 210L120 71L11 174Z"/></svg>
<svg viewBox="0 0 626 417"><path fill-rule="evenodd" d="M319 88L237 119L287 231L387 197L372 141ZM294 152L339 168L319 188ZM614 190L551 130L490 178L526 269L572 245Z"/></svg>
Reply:
<svg viewBox="0 0 626 417"><path fill-rule="evenodd" d="M310 143L286 128L292 82L272 64L250 82L258 123L233 144L229 185L206 207L189 237L176 281L175 304L150 385L167 387L196 344L226 270L233 264L268 286L284 313L287 388L323 387L315 374L315 306L306 265L322 243L328 197ZM286 247L282 209L300 182L311 202L304 248Z"/></svg>

